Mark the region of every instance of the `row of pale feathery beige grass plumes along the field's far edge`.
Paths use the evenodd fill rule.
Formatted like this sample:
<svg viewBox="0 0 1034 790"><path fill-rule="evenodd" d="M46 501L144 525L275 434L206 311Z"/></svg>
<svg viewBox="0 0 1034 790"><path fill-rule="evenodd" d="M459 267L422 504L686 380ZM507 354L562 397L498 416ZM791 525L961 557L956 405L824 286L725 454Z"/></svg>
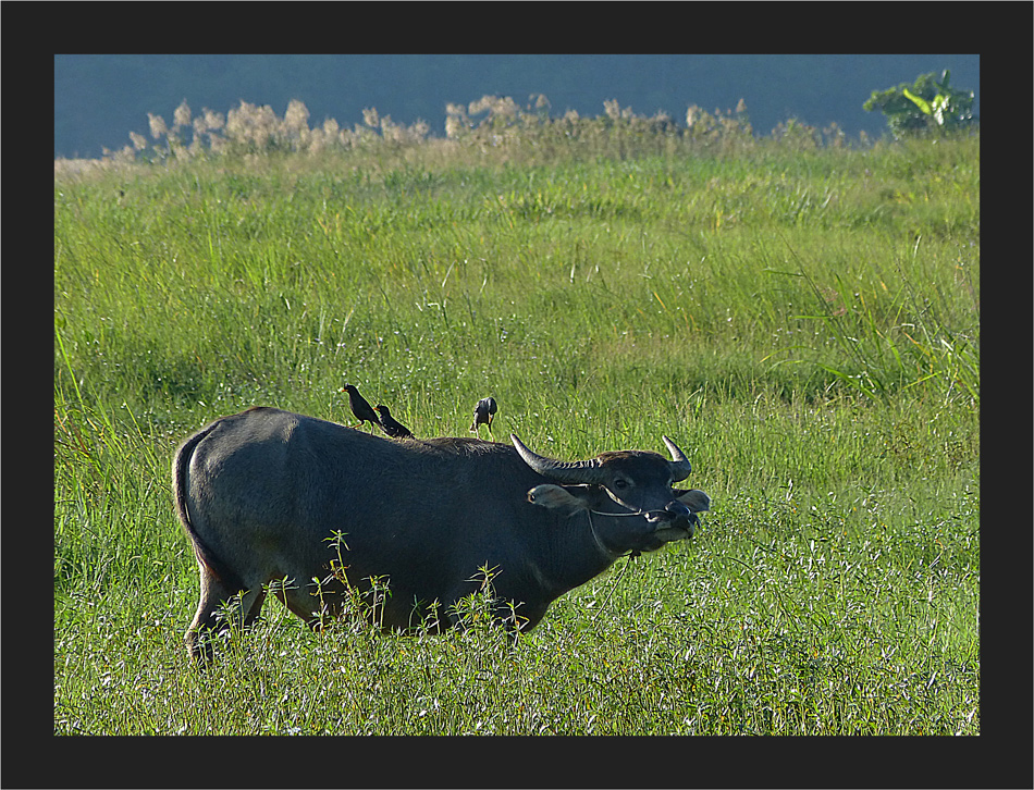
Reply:
<svg viewBox="0 0 1034 790"><path fill-rule="evenodd" d="M780 123L770 138L759 138L751 126L747 106L740 99L733 111L713 113L697 107L686 112L679 125L665 112L638 115L616 100L603 102L604 112L582 118L568 110L550 114L543 95L520 106L510 97L483 96L469 104L445 108L445 137L430 134L424 121L396 124L377 109L362 112L362 123L343 127L334 119L309 126L309 111L293 99L284 115L266 106L242 101L229 113L204 109L195 114L184 101L169 124L148 114L150 139L130 133L131 144L118 151L104 150L99 162L56 161L58 171L119 168L137 162L183 163L196 159L256 162L276 155L304 153L320 160L327 155L374 159L391 169L395 164L429 162L547 164L571 159L627 159L644 156L735 156L761 152L772 145L781 150L814 150L823 145L842 146L846 135L836 125L818 131L796 119ZM321 161L321 160L320 160Z"/></svg>

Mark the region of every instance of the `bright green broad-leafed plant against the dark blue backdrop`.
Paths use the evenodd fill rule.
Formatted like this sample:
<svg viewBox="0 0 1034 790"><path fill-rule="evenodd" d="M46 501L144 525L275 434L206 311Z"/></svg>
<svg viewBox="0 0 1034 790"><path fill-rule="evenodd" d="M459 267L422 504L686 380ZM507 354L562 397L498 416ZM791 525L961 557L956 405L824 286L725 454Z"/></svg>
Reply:
<svg viewBox="0 0 1034 790"><path fill-rule="evenodd" d="M879 110L895 137L919 134L931 129L956 129L978 122L973 114L973 91L948 86L951 72L945 69L938 82L933 72L920 75L909 86L874 90L862 108Z"/></svg>

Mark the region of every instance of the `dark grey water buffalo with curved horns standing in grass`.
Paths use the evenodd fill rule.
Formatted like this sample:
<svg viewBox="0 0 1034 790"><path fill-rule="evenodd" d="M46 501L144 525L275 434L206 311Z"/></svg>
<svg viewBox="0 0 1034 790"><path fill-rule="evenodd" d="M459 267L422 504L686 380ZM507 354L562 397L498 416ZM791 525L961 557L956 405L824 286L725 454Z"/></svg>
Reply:
<svg viewBox="0 0 1034 790"><path fill-rule="evenodd" d="M266 407L194 434L173 464L201 577L189 653L208 654L202 633L238 593L231 613L245 626L270 589L317 626L346 607L348 588L369 595L371 579L390 591L372 613L385 628L443 630L481 568L494 571L496 614L527 631L618 557L691 538L711 503L672 487L690 465L666 436L672 460L623 450L563 462L510 440L391 441ZM331 572L338 553L347 587Z"/></svg>

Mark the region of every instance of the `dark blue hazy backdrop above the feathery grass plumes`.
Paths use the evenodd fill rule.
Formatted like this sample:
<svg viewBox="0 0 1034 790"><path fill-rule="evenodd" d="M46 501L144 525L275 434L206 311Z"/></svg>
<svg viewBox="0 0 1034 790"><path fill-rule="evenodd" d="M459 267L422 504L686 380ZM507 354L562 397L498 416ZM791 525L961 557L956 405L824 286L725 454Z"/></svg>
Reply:
<svg viewBox="0 0 1034 790"><path fill-rule="evenodd" d="M755 134L797 118L878 136L886 119L862 110L872 91L945 69L975 92L978 115L978 54L56 54L54 157L116 150L131 131L147 133L147 113L169 116L184 99L195 111L225 113L243 100L278 114L298 99L313 123L343 126L372 107L395 123L423 120L435 135L447 102L484 95L524 106L544 94L554 115L583 116L615 99L679 125L690 104L725 111L743 99Z"/></svg>

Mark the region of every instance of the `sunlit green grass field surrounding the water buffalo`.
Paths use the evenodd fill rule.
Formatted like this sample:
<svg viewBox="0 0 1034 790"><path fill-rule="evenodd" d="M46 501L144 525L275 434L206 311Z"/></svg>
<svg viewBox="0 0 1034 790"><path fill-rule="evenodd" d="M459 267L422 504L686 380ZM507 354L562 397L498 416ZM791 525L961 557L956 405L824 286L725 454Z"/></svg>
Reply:
<svg viewBox="0 0 1034 790"><path fill-rule="evenodd" d="M56 174L54 733L978 735L978 134L432 143ZM197 671L176 445L346 381L418 436L667 434L713 511L516 647L271 603Z"/></svg>

